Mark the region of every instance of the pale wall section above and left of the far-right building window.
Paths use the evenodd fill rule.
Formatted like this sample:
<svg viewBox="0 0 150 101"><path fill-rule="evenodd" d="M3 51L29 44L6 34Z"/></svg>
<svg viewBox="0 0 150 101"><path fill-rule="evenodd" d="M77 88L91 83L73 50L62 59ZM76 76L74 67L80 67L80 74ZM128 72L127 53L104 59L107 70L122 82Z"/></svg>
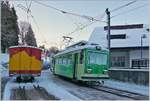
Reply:
<svg viewBox="0 0 150 101"><path fill-rule="evenodd" d="M130 67L132 65L132 59L141 58L141 50L132 50L129 52ZM142 58L149 58L149 50L142 50Z"/></svg>

